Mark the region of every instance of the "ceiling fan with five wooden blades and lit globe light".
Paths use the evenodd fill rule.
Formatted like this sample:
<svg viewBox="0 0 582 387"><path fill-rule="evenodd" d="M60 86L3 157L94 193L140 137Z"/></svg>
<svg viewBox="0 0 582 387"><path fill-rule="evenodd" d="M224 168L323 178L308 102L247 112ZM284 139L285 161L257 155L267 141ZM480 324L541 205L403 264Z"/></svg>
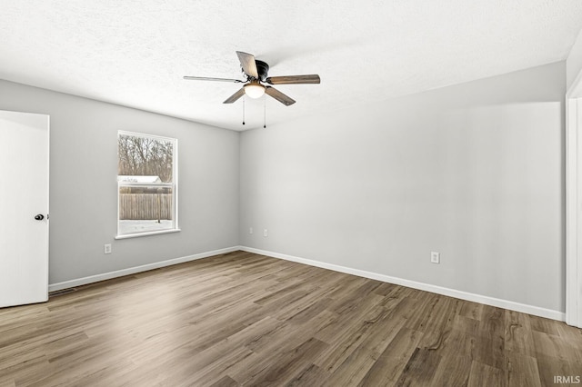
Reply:
<svg viewBox="0 0 582 387"><path fill-rule="evenodd" d="M193 81L218 81L244 84L235 94L229 96L223 104L232 104L243 95L251 98L258 98L267 94L275 98L281 104L289 106L296 101L286 94L281 93L275 87L266 84L319 84L320 79L317 74L310 75L287 75L287 76L267 76L269 65L263 61L255 59L254 55L236 51L243 73L246 74L246 81L227 78L208 78L205 76L185 76L184 79Z"/></svg>

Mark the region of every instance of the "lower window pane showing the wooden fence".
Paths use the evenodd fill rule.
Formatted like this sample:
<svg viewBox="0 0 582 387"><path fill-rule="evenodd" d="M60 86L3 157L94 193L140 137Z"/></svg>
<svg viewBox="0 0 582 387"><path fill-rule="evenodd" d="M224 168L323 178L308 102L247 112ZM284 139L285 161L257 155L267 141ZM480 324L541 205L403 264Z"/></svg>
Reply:
<svg viewBox="0 0 582 387"><path fill-rule="evenodd" d="M149 233L176 228L172 187L120 186L119 233Z"/></svg>

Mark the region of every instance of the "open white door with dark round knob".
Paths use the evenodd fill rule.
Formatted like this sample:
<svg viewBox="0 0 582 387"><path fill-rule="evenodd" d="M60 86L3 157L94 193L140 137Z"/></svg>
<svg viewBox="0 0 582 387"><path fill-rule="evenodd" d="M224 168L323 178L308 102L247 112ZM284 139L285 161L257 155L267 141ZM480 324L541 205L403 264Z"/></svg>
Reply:
<svg viewBox="0 0 582 387"><path fill-rule="evenodd" d="M48 300L48 118L0 111L0 307Z"/></svg>

